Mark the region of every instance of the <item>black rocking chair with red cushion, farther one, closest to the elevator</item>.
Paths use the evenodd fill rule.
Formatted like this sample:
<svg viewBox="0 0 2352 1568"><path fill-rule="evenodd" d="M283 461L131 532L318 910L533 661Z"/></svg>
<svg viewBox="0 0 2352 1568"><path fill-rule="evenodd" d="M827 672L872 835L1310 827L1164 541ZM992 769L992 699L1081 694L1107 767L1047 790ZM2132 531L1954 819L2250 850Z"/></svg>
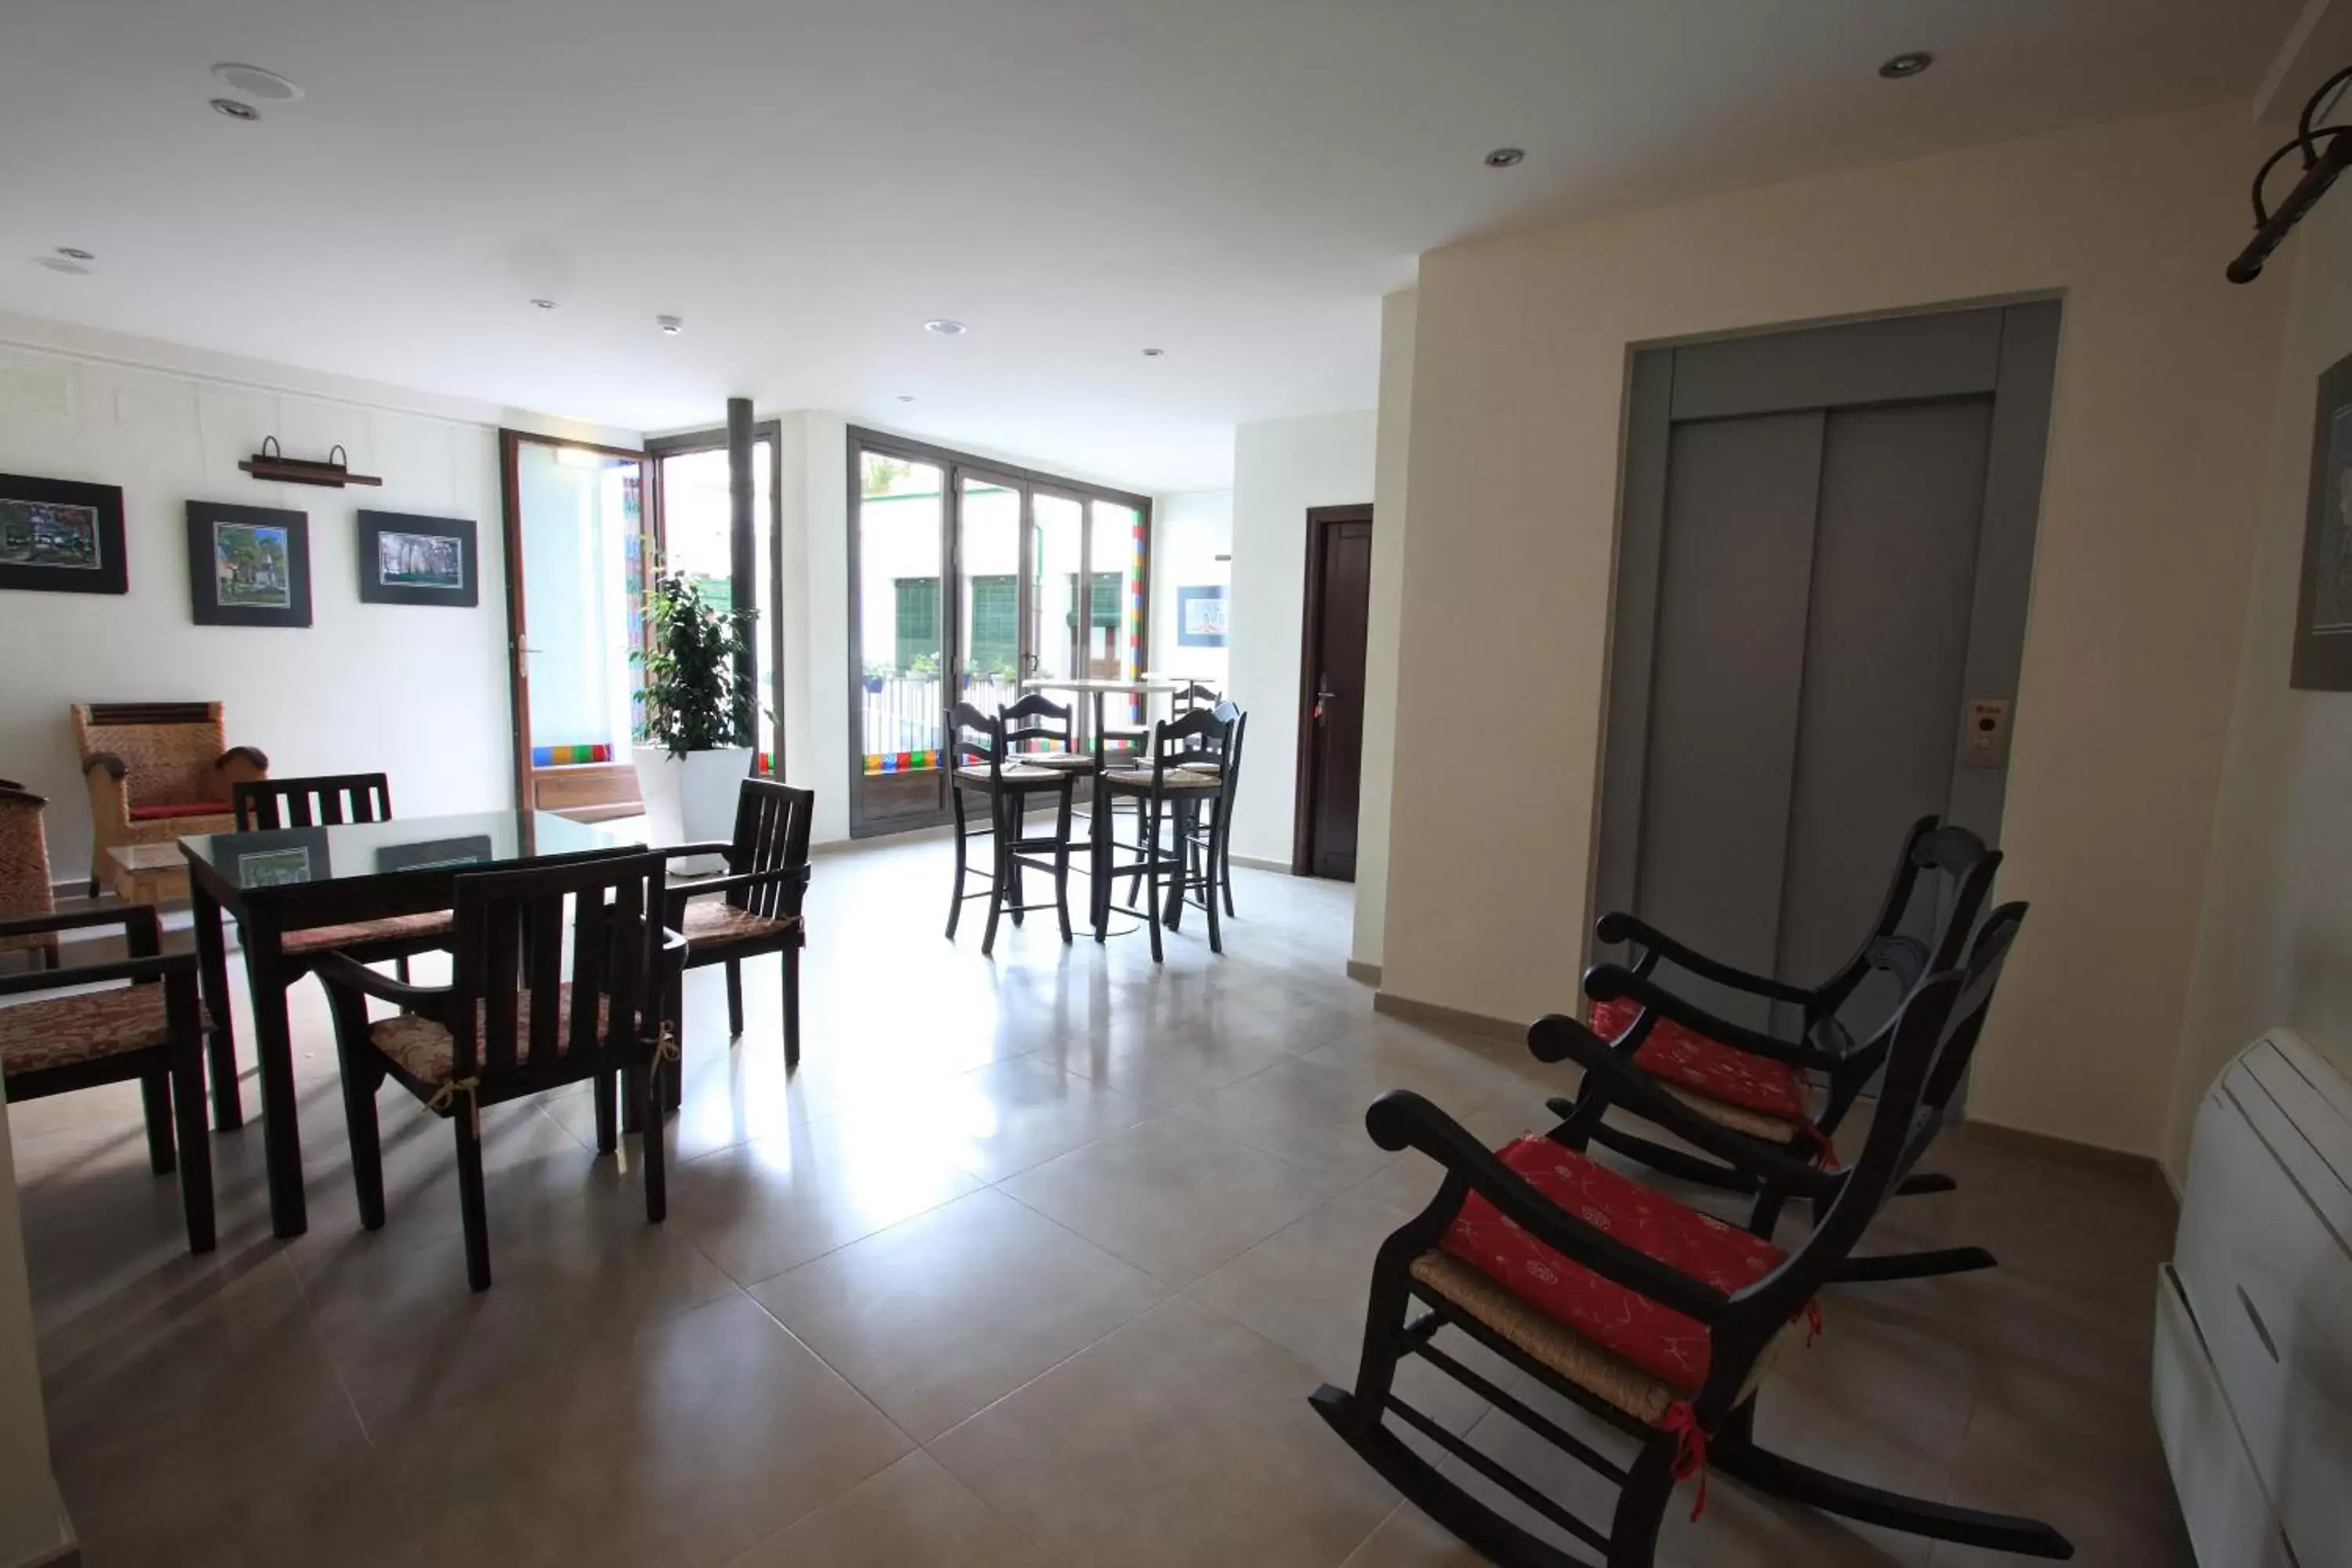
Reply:
<svg viewBox="0 0 2352 1568"><path fill-rule="evenodd" d="M1755 976L1696 952L1632 914L1604 914L1597 924L1599 940L1628 943L1637 957L1630 966L1597 964L1585 976L1592 1032L1696 1117L1783 1152L1828 1159L1839 1124L1879 1072L1889 1048L1884 1027L1872 1034L1875 1044L1858 1046L1839 1023L1839 1009L1875 973L1891 976L1896 994L1905 994L1922 976L1955 969L1992 893L1999 865L1999 851L1985 849L1985 842L1966 827L1950 827L1931 816L1912 823L1877 919L1853 957L1820 985ZM1931 872L1940 872L1943 900L1933 936L1922 940L1905 933L1905 926L1919 924L1917 905L1938 889ZM1665 966L1785 1004L1797 1013L1797 1025L1790 1034L1776 1034L1731 1023L1675 990ZM1809 1088L1809 1072L1825 1081L1820 1095ZM1726 1192L1757 1192L1757 1234L1771 1234L1771 1215L1778 1213L1773 1194L1759 1192L1743 1171L1609 1124L1604 1119L1609 1103L1606 1084L1581 1098L1573 1117L1578 1147L1590 1138L1682 1180ZM1922 1178L1915 1190L1947 1187L1947 1178Z"/></svg>

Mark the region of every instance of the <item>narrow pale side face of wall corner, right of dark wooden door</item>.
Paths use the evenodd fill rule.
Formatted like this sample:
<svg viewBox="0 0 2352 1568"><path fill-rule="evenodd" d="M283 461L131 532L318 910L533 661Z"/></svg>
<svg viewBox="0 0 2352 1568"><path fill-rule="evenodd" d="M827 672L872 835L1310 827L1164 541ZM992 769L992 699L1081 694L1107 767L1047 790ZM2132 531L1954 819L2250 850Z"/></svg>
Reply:
<svg viewBox="0 0 2352 1568"><path fill-rule="evenodd" d="M1397 752L1397 621L1404 611L1404 489L1414 437L1411 289L1381 301L1381 423L1371 477L1371 609L1364 651L1364 797L1355 823L1355 938L1348 957L1378 969L1388 926L1388 830Z"/></svg>

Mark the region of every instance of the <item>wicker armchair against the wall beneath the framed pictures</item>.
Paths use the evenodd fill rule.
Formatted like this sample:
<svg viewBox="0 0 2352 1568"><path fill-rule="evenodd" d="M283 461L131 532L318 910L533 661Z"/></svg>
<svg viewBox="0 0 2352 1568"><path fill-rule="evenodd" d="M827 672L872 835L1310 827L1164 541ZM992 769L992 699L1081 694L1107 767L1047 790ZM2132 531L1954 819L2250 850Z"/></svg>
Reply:
<svg viewBox="0 0 2352 1568"><path fill-rule="evenodd" d="M219 703L75 703L73 741L89 785L89 896L113 882L106 851L233 832L235 785L268 778L270 759L221 743Z"/></svg>

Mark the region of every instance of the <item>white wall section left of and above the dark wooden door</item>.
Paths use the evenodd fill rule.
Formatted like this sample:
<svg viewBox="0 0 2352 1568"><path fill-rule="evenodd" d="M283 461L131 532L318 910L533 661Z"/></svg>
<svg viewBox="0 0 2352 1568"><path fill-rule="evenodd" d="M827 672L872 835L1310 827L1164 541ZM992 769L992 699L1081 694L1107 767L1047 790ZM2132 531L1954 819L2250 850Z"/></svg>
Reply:
<svg viewBox="0 0 2352 1568"><path fill-rule="evenodd" d="M1357 409L1232 433L1230 696L1249 710L1249 755L1232 813L1240 858L1291 863L1308 508L1371 501L1376 423L1371 409Z"/></svg>

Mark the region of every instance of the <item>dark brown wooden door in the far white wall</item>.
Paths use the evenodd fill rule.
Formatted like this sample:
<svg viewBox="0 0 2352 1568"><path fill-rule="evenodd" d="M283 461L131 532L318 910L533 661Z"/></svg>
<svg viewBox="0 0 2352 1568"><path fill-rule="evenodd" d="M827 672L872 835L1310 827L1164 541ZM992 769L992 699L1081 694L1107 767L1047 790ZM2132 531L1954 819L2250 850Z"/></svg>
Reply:
<svg viewBox="0 0 2352 1568"><path fill-rule="evenodd" d="M1291 870L1355 882L1364 795L1364 637L1371 621L1371 508L1308 510L1305 654L1298 712L1298 832Z"/></svg>

